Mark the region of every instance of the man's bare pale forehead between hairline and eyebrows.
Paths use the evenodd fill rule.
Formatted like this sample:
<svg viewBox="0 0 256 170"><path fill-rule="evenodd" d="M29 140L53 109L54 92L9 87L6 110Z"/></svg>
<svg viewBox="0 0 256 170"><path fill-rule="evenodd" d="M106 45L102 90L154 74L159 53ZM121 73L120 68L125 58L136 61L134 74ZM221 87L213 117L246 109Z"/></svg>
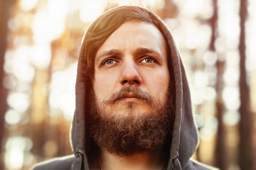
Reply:
<svg viewBox="0 0 256 170"><path fill-rule="evenodd" d="M102 50L126 49L138 46L155 48L160 51L166 50L164 36L154 24L142 21L127 21L107 38L97 50L97 54Z"/></svg>

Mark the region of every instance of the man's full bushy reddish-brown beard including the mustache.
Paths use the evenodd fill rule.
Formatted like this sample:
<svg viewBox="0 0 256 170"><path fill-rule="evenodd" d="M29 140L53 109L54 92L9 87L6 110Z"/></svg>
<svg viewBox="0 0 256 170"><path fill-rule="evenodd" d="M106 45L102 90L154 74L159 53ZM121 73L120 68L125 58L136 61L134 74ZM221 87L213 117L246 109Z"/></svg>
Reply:
<svg viewBox="0 0 256 170"><path fill-rule="evenodd" d="M139 111L136 111L136 114L110 113L104 104L117 102L126 92L132 92L142 98L151 106L150 111L142 114ZM92 125L91 136L101 149L107 149L108 152L119 156L132 156L169 147L167 141L171 140L174 122L169 95L164 103L159 103L150 94L136 88L124 88L103 104L96 103L95 98L92 101L94 102L91 108L96 123ZM134 111L134 105L135 103L129 103L127 110Z"/></svg>

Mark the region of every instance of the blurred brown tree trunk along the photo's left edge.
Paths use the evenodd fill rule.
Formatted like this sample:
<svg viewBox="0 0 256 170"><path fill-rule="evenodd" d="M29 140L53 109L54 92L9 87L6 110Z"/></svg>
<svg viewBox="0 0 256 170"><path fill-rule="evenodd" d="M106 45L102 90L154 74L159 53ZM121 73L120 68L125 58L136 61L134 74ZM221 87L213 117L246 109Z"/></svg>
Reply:
<svg viewBox="0 0 256 170"><path fill-rule="evenodd" d="M8 21L11 16L10 7L14 4L14 0L0 1L0 151L2 151L4 140L4 115L7 109L6 96L7 90L4 87L4 54L7 46ZM3 152L1 152L2 154ZM0 157L3 157L0 155ZM0 159L0 169L4 169L4 163Z"/></svg>

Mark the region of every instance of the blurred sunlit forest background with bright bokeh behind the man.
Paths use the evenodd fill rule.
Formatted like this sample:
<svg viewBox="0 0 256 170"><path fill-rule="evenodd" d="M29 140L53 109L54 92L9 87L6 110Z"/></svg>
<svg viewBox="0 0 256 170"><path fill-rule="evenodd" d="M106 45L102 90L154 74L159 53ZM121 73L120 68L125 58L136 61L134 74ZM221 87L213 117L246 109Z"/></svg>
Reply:
<svg viewBox="0 0 256 170"><path fill-rule="evenodd" d="M193 158L256 169L255 0L1 0L0 169L72 154L82 35L122 5L149 8L174 35L200 135Z"/></svg>

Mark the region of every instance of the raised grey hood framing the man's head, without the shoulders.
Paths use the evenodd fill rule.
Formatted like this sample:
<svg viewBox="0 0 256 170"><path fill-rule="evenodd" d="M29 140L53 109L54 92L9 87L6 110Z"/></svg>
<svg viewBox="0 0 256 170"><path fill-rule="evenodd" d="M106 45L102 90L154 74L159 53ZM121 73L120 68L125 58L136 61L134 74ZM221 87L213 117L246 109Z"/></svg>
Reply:
<svg viewBox="0 0 256 170"><path fill-rule="evenodd" d="M198 143L198 134L196 125L193 120L188 81L186 79L186 73L181 62L181 57L174 43L174 38L171 36L169 28L167 28L164 22L144 8L140 8L138 6L120 6L112 10L120 12L124 8L131 11L134 8L137 8L138 10L147 13L147 15L149 15L152 20L158 24L159 30L161 30L164 38L166 38L168 45L169 72L171 79L175 80L174 99L176 101L176 118L172 132L172 140L169 144L171 147L169 150L168 169L171 169L171 166L178 166L178 164L180 164L182 168L186 167L188 159L190 159L191 155L196 149ZM107 13L108 12L109 11L107 11ZM86 74L84 71L87 69L85 61L85 55L87 54L87 52L85 52L85 41L87 40L87 34L90 34L92 29L91 27L94 26L95 25L92 24L90 28L88 28L80 49L78 60L78 76L75 86L76 108L71 130L73 152L76 158L82 157L77 159L78 162L82 161L82 164L87 164L87 156L90 154L91 149L96 147L95 143L90 137L90 128L92 127L94 121L92 115L90 115L90 91L92 90L92 77ZM80 156L81 154L82 156ZM78 162L75 161L74 164L80 164Z"/></svg>

